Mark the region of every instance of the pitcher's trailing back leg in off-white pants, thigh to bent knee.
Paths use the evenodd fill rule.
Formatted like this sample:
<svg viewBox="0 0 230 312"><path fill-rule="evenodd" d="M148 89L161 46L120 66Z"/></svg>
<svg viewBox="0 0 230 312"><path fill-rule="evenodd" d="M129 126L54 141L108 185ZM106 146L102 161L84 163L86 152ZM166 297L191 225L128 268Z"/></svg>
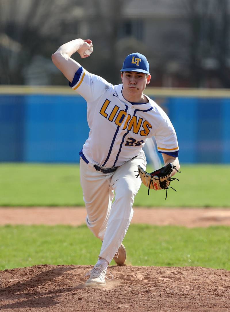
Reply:
<svg viewBox="0 0 230 312"><path fill-rule="evenodd" d="M82 159L80 173L87 210L86 224L96 237L103 240L114 198L113 191L110 189L110 177L96 171Z"/></svg>

